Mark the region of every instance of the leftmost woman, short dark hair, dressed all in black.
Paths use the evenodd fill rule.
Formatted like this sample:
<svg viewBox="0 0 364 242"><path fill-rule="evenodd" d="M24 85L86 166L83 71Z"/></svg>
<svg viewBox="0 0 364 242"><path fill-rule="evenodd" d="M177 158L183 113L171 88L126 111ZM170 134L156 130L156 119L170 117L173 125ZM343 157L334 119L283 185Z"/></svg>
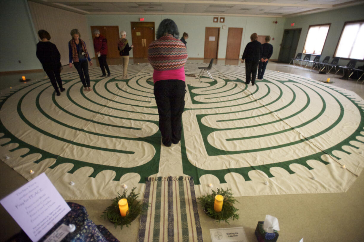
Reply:
<svg viewBox="0 0 364 242"><path fill-rule="evenodd" d="M50 78L57 96L59 96L61 93L58 90L57 83L61 92L66 90L62 86L62 80L60 76L60 68L62 66L60 62L61 55L56 45L49 41L51 36L47 31L41 29L38 31L38 36L41 41L39 41L37 44L36 55L42 64L44 71L47 73L47 76Z"/></svg>

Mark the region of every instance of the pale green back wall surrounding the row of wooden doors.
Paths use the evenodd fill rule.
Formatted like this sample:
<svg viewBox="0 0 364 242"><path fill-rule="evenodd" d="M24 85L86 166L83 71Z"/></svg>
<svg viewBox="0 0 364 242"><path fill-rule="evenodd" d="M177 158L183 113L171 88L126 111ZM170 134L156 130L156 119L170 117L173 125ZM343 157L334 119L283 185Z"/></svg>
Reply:
<svg viewBox="0 0 364 242"><path fill-rule="evenodd" d="M94 25L118 25L119 31L126 31L128 41L131 42L130 22L138 22L140 15L87 15L88 31L91 33L90 26ZM278 59L279 44L283 37L283 26L285 19L269 17L225 17L225 23L213 23L213 16L198 15L143 15L145 22L154 22L155 28L163 19L172 19L178 26L180 37L183 32L187 32L187 53L189 57L203 58L205 45L205 27L220 27L220 41L218 58L225 58L227 31L229 27L243 28L243 37L240 56L244 51L245 45L250 41L250 35L254 32L258 35L270 35L274 40L270 41L274 51L272 59ZM277 24L273 21L278 21ZM222 25L226 29L222 29ZM89 50L91 52L91 50ZM132 57L132 51L130 52Z"/></svg>

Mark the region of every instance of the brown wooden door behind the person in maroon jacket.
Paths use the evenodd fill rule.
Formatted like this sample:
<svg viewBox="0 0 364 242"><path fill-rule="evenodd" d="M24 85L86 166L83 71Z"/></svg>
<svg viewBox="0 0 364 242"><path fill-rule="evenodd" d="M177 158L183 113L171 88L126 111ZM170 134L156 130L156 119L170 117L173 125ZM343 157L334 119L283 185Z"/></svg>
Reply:
<svg viewBox="0 0 364 242"><path fill-rule="evenodd" d="M107 40L107 57L119 58L120 56L118 51L119 26L91 26L92 45L93 45L93 40L95 38L94 35L95 29L98 29L100 31L100 35L104 36Z"/></svg>

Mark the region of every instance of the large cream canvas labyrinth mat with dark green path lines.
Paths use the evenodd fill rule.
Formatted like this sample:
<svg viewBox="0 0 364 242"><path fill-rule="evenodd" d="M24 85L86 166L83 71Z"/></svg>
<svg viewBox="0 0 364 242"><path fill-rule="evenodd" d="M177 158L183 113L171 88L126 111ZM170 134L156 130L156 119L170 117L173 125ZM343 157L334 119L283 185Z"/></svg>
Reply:
<svg viewBox="0 0 364 242"><path fill-rule="evenodd" d="M199 73L185 66L186 74ZM63 73L3 90L1 159L28 180L42 172L65 199L110 199L150 176L191 176L198 194L343 192L364 165L364 100L302 76L266 70L245 84L242 66L186 76L182 140L162 145L150 64L90 69L92 91ZM30 170L34 173L31 174ZM74 185L70 185L74 182Z"/></svg>

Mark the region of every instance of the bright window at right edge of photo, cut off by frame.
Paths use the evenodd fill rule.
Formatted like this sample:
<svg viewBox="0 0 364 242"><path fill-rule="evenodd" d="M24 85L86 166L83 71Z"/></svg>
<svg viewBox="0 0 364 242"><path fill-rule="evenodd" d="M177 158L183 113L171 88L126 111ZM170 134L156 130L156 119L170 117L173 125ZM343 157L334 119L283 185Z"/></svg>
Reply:
<svg viewBox="0 0 364 242"><path fill-rule="evenodd" d="M364 59L364 20L345 22L335 56L358 60Z"/></svg>

